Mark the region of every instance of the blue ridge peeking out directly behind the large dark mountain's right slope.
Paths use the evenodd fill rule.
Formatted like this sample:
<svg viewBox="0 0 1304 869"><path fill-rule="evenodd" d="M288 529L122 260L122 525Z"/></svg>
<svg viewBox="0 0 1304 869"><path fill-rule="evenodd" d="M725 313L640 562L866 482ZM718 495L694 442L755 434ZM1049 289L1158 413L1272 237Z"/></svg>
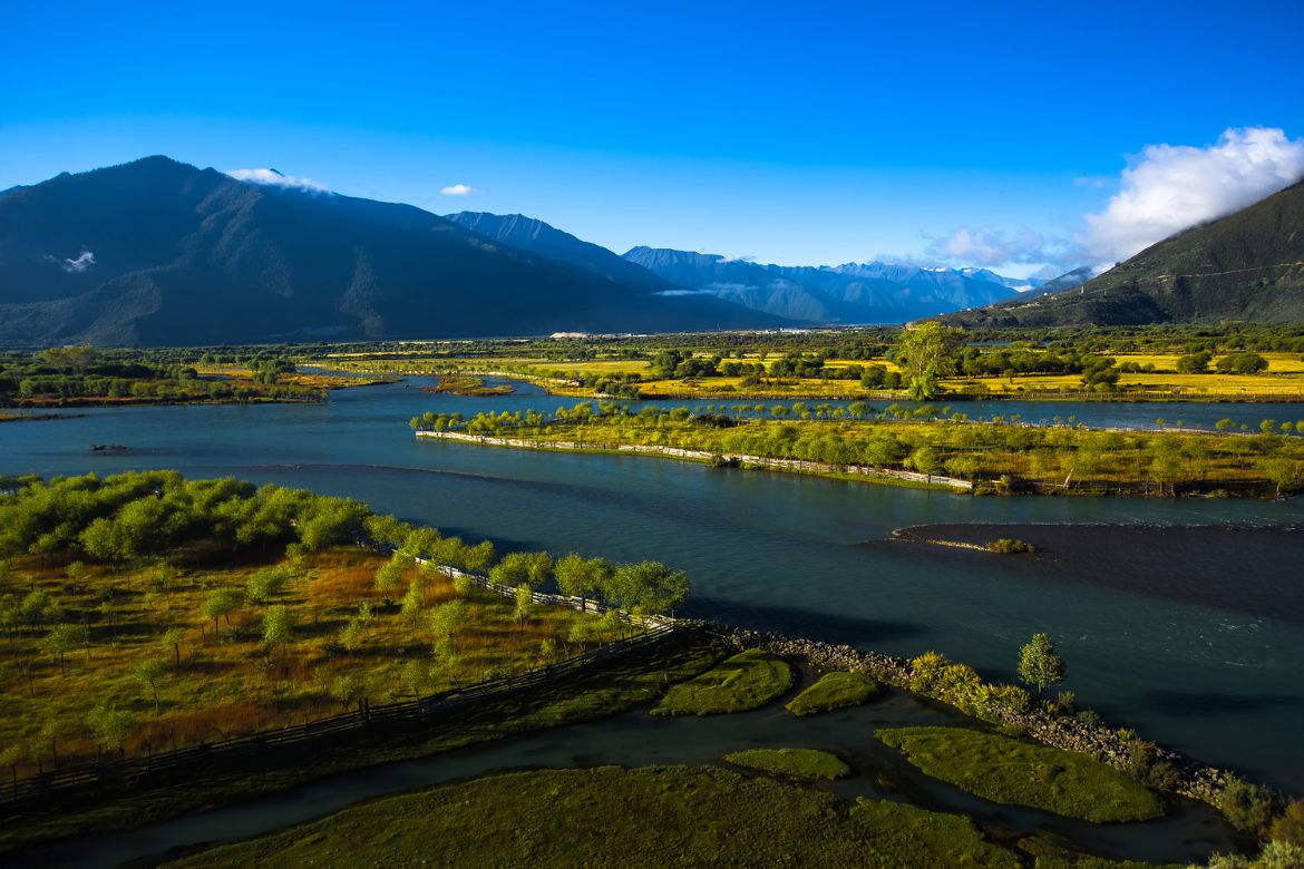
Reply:
<svg viewBox="0 0 1304 869"><path fill-rule="evenodd" d="M446 219L486 238L578 266L606 280L621 281L629 287L642 287L653 293L675 289L674 284L606 248L576 238L569 232L562 232L535 218L519 214L459 211L446 215Z"/></svg>

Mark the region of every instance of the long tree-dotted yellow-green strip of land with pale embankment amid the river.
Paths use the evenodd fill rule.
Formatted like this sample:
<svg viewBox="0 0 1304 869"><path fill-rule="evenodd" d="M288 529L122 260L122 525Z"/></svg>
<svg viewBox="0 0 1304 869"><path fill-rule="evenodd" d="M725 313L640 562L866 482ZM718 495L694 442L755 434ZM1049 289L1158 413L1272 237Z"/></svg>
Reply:
<svg viewBox="0 0 1304 869"><path fill-rule="evenodd" d="M1284 494L1304 483L1301 423L1265 420L1258 434L1124 433L1009 421L974 422L926 405L865 403L647 406L583 403L548 414L536 410L477 414L428 413L413 429L566 440L595 448L660 446L720 456L794 459L832 469L866 466L948 474L981 483L979 491L1063 490L1097 486L1176 494L1219 487L1270 486ZM1221 426L1221 430L1228 426Z"/></svg>

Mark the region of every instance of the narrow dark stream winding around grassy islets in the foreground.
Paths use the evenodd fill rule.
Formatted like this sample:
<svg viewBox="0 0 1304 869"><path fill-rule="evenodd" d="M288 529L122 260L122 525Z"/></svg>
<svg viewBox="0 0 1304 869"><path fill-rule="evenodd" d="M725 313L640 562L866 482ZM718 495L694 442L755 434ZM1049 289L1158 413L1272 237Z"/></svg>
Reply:
<svg viewBox="0 0 1304 869"><path fill-rule="evenodd" d="M883 727L965 724L957 713L888 691L865 706L797 718L782 704L795 693L746 714L705 718L652 718L638 709L614 718L545 730L510 740L433 757L389 763L333 776L293 791L240 805L192 814L140 830L77 836L23 855L33 865L110 868L153 862L176 848L257 836L336 812L361 800L475 778L488 773L592 767L602 765L722 763L724 754L747 748L818 748L848 761L846 779L820 783L840 797L904 800L922 808L958 812L1000 831L1045 830L1112 857L1202 860L1232 848L1231 830L1211 808L1172 800L1170 813L1142 823L1095 825L970 796L905 762L874 737Z"/></svg>

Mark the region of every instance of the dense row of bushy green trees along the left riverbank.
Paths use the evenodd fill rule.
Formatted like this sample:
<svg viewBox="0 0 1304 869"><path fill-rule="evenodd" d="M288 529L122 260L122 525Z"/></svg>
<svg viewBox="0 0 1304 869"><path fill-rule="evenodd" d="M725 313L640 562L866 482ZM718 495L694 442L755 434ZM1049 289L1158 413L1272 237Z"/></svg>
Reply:
<svg viewBox="0 0 1304 869"><path fill-rule="evenodd" d="M639 614L664 614L689 593L683 573L656 562L617 565L604 559L510 552L464 543L437 529L376 515L349 498L232 478L186 481L176 472L129 472L100 478L0 479L0 558L72 555L126 564L194 542L232 551L295 543L318 552L368 542L394 551L396 577L416 559L482 573L531 590L556 580L563 594L604 601ZM379 580L378 580L379 582ZM21 605L10 601L9 611Z"/></svg>

